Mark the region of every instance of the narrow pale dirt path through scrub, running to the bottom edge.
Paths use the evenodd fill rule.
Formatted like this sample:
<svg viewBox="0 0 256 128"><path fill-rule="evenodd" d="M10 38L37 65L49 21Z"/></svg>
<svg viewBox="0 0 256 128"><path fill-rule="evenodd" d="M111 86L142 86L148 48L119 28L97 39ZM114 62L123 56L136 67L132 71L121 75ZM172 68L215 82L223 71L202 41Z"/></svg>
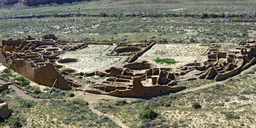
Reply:
<svg viewBox="0 0 256 128"><path fill-rule="evenodd" d="M104 116L107 116L109 117L110 119L112 119L116 124L118 124L119 126L121 126L122 128L128 128L127 126L125 126L117 117L114 117L112 115L109 115L109 114L103 114L97 110L94 109L94 105L93 105L93 102L91 101L88 101L89 105L88 107L94 112L96 113L97 115L104 115Z"/></svg>

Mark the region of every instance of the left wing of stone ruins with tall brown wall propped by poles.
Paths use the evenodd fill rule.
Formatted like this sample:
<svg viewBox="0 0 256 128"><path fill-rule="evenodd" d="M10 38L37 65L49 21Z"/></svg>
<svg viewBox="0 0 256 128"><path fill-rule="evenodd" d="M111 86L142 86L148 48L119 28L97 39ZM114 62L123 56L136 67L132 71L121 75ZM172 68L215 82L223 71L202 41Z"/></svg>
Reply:
<svg viewBox="0 0 256 128"><path fill-rule="evenodd" d="M2 40L0 62L6 67L10 67L14 62L13 71L37 84L52 87L55 79L58 78L56 88L72 89L72 86L76 84L66 80L64 75L74 71L59 71L58 68L61 68L61 65L53 64L56 61L63 63L78 61L77 59L61 59L57 56L67 51L83 49L88 47L88 44L102 43L68 42L59 40L54 34L44 35L41 39L35 39L29 35L25 40L19 38ZM113 45L112 43L104 44Z"/></svg>

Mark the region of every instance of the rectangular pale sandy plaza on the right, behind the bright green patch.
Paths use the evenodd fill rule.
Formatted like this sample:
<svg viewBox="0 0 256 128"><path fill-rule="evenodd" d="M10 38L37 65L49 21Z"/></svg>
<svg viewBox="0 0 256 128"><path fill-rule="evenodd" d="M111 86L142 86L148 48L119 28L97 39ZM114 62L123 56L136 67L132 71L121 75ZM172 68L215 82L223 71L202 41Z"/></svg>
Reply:
<svg viewBox="0 0 256 128"><path fill-rule="evenodd" d="M200 44L156 44L142 56L201 55L207 49Z"/></svg>

